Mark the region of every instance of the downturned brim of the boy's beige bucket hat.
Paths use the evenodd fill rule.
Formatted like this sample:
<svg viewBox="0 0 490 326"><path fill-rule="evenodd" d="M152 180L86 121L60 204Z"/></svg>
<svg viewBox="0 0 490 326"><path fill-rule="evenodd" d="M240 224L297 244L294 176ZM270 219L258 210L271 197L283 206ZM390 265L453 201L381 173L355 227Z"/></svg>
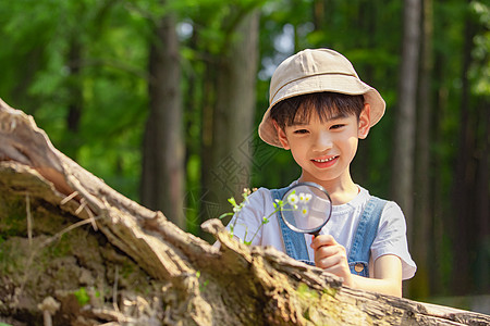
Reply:
<svg viewBox="0 0 490 326"><path fill-rule="evenodd" d="M270 118L271 109L289 98L314 92L339 92L345 95L363 95L365 103L370 105L370 126L376 125L384 114L385 103L380 93L366 83L352 75L322 74L293 80L279 89L270 100L270 105L259 125L259 137L269 145L282 148L278 133Z"/></svg>

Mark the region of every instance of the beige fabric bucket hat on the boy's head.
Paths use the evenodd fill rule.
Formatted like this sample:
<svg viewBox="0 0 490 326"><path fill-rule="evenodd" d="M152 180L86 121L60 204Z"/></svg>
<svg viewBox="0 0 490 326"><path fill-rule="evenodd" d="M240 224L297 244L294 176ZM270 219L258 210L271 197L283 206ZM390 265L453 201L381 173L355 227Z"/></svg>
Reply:
<svg viewBox="0 0 490 326"><path fill-rule="evenodd" d="M269 108L259 125L260 138L281 147L270 118L270 110L278 102L311 92L332 91L346 95L364 95L371 106L370 126L384 114L385 103L379 92L360 80L352 63L330 49L307 49L284 60L270 80Z"/></svg>

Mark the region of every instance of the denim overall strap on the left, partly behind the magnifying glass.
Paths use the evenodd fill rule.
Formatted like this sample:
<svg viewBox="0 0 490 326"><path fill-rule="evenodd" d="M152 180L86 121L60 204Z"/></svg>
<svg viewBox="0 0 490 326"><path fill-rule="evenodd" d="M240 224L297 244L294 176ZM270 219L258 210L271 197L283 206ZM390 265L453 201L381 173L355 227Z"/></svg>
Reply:
<svg viewBox="0 0 490 326"><path fill-rule="evenodd" d="M272 197L272 201L275 202L275 199L282 200L282 197L287 190L289 187L281 189L271 189L270 193ZM284 221L282 221L281 212L278 211L275 215L279 221L279 226L282 233L282 240L284 242L284 248L287 255L297 261L310 263L308 249L306 248L305 236L303 234L295 233L291 228L289 228L285 225Z"/></svg>

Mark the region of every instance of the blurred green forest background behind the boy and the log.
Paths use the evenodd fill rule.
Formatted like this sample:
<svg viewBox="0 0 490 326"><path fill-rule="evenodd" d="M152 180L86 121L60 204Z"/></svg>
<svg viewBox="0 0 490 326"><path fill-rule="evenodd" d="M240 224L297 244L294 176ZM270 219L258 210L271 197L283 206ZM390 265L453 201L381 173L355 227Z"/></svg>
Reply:
<svg viewBox="0 0 490 326"><path fill-rule="evenodd" d="M335 49L387 101L352 170L406 214L418 272L405 296L489 294L489 26L486 1L0 1L0 97L211 240L199 225L229 197L299 175L256 133L274 67Z"/></svg>

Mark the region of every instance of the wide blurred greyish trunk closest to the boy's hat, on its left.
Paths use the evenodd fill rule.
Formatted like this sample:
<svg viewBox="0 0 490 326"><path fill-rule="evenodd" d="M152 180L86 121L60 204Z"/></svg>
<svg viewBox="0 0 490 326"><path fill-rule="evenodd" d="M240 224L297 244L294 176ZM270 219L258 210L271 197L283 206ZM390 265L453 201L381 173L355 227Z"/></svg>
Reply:
<svg viewBox="0 0 490 326"><path fill-rule="evenodd" d="M258 65L257 10L247 13L220 53L216 74L216 104L204 123L204 220L230 210L228 198L249 187L255 116L255 78ZM208 108L210 109L210 108ZM209 111L209 110L208 110ZM207 111L207 112L208 112ZM209 113L209 112L208 112Z"/></svg>

